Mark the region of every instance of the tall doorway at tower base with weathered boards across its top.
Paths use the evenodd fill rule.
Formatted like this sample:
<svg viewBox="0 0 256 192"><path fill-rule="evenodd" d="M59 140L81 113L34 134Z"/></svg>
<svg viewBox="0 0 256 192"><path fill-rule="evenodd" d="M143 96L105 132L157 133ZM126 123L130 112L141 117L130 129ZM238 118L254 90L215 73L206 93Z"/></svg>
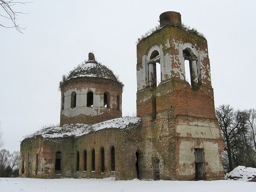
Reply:
<svg viewBox="0 0 256 192"><path fill-rule="evenodd" d="M195 148L195 166L196 166L196 178L195 180L204 180L204 149Z"/></svg>

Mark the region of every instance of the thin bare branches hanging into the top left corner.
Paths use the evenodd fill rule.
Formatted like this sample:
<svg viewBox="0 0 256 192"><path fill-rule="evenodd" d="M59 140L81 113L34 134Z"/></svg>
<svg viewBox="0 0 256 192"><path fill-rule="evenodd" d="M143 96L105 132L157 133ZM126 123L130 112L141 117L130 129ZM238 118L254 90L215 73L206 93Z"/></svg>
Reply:
<svg viewBox="0 0 256 192"><path fill-rule="evenodd" d="M15 11L15 5L17 5L17 4L25 5L27 3L30 3L30 2L16 2L13 0L0 0L0 5L2 7L2 12L3 12L0 14L0 16L5 18L5 23L7 23L7 24L0 23L0 26L5 27L5 28L16 28L17 31L22 33L21 30L25 29L25 28L22 28L17 24L17 19L18 19L17 16L19 14L28 14L28 13ZM1 21L1 22L3 22L3 21Z"/></svg>

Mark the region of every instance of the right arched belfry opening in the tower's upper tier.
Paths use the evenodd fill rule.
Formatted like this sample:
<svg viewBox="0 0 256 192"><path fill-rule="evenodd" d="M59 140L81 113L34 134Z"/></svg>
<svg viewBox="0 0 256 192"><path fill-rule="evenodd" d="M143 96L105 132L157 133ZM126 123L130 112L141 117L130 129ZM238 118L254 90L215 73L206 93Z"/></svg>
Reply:
<svg viewBox="0 0 256 192"><path fill-rule="evenodd" d="M198 83L197 57L188 47L183 50L183 57L185 80L192 87L195 83Z"/></svg>

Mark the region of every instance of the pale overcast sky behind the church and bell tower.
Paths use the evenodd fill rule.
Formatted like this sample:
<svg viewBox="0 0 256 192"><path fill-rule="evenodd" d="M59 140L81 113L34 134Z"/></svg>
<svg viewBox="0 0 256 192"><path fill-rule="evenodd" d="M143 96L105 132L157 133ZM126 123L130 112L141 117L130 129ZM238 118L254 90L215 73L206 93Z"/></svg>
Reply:
<svg viewBox="0 0 256 192"><path fill-rule="evenodd" d="M25 135L58 124L63 74L93 51L125 84L123 116L136 111L136 40L166 11L208 41L215 106L256 108L255 1L34 1L15 9L27 27L0 28L0 120L4 148L20 150ZM14 7L13 7L14 8ZM0 9L0 14L1 14ZM0 23L3 18L0 17Z"/></svg>

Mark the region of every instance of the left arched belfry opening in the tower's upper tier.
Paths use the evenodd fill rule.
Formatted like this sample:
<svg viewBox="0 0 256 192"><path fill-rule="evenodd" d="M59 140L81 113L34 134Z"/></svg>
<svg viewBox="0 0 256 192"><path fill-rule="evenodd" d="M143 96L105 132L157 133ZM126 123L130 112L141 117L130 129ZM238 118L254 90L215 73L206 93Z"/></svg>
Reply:
<svg viewBox="0 0 256 192"><path fill-rule="evenodd" d="M153 51L148 61L149 87L156 88L161 83L160 55L157 50Z"/></svg>

